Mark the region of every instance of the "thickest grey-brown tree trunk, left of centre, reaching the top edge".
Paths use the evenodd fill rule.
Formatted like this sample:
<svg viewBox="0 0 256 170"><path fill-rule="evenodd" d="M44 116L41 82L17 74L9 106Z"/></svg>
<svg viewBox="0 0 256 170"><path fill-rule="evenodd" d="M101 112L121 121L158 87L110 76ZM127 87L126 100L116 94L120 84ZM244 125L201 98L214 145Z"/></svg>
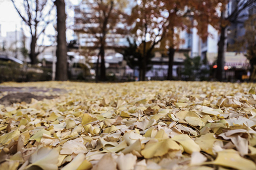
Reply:
<svg viewBox="0 0 256 170"><path fill-rule="evenodd" d="M67 46L65 0L54 1L57 8L57 65L56 80L67 80Z"/></svg>

